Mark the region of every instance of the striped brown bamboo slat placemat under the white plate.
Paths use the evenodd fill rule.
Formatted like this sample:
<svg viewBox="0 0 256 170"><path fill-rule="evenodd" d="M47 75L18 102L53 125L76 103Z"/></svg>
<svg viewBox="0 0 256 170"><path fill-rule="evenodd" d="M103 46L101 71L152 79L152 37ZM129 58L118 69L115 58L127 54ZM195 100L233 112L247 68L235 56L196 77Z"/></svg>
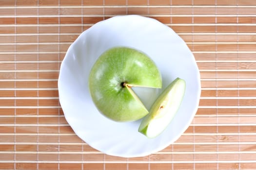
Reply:
<svg viewBox="0 0 256 170"><path fill-rule="evenodd" d="M163 151L121 158L66 122L59 66L69 45L116 15L153 17L179 34L201 74L197 115ZM255 170L256 0L0 0L1 170Z"/></svg>

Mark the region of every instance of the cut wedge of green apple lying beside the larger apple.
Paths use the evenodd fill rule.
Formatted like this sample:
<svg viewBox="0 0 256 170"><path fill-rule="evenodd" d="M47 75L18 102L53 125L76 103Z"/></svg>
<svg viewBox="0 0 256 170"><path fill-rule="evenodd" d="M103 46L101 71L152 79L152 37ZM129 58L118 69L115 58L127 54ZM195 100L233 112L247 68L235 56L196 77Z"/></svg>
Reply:
<svg viewBox="0 0 256 170"><path fill-rule="evenodd" d="M180 78L168 85L150 108L149 114L142 120L138 132L149 138L161 134L176 115L185 89L186 83Z"/></svg>

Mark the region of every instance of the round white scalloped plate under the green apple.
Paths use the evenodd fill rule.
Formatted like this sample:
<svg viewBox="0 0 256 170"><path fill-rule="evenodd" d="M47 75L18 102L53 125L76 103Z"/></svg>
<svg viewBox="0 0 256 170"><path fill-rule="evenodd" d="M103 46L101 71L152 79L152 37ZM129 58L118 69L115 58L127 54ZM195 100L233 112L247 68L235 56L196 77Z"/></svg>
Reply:
<svg viewBox="0 0 256 170"><path fill-rule="evenodd" d="M186 81L177 115L156 138L138 133L141 120L114 122L102 116L92 102L88 89L90 70L102 52L115 46L148 54L162 74L162 89L177 77ZM185 42L159 21L137 15L112 17L80 34L61 64L58 85L61 107L74 132L98 151L121 157L155 153L177 140L195 116L201 92L197 64ZM135 91L147 108L161 92L152 88Z"/></svg>

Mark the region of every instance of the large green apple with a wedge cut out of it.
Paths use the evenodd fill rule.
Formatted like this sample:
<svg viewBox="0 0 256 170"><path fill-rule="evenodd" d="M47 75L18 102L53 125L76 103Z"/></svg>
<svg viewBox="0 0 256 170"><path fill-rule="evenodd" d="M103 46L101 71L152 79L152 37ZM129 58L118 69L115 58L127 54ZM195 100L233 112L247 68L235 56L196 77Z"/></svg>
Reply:
<svg viewBox="0 0 256 170"><path fill-rule="evenodd" d="M148 110L132 87L161 88L156 64L141 51L114 47L101 54L89 75L89 89L98 111L115 121L138 120Z"/></svg>

